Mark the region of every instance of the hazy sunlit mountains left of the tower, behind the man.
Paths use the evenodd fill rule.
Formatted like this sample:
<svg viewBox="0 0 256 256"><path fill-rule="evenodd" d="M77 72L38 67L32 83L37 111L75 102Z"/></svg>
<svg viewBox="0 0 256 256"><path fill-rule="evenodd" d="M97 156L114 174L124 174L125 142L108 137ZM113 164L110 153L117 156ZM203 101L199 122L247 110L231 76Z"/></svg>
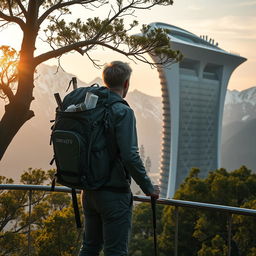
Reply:
<svg viewBox="0 0 256 256"><path fill-rule="evenodd" d="M73 75L62 69L57 72L57 67L43 64L38 67L35 77L34 96L36 100L31 106L35 117L21 128L0 162L0 174L15 180L18 180L23 170L29 167L53 168L49 165L53 157L52 148L49 145L52 125L50 120L54 119L56 108L53 94L59 92L63 99ZM103 84L99 77L89 83L78 79L79 87L93 83ZM133 91L127 95L126 100L135 111L139 145L144 145L145 156L151 159L151 176L156 181L160 161L161 98ZM3 111L3 108L0 108L0 114L2 114L1 110Z"/></svg>

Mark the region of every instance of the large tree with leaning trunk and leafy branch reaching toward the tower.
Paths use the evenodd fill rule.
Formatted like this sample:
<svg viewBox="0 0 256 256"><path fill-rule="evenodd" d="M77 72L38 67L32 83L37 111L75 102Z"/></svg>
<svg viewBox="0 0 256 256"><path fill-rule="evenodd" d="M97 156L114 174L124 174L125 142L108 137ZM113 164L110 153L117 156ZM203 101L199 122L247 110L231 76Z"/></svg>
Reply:
<svg viewBox="0 0 256 256"><path fill-rule="evenodd" d="M0 26L7 28L8 24L16 24L23 38L17 89L13 94L2 90L9 104L5 106L0 121L0 160L19 129L34 116L30 105L34 100L34 73L40 63L76 51L98 65L90 56L90 51L97 46L154 66L179 60L181 55L171 50L167 31L143 25L140 35L130 35L138 22L133 21L129 25L124 22L124 17L132 16L136 10L171 4L172 0L116 0L111 3L108 0L2 0ZM87 11L103 7L108 10L107 16L103 19L87 18L85 22L81 19L65 21L64 17L72 13L74 6L81 6ZM36 55L39 38L48 43L51 50ZM150 53L154 61L145 57L145 53Z"/></svg>

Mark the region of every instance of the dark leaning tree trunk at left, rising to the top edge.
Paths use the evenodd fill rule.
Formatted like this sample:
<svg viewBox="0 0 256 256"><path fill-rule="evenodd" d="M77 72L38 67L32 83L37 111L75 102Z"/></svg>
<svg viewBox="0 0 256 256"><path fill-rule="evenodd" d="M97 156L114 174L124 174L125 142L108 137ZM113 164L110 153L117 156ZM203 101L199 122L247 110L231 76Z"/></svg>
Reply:
<svg viewBox="0 0 256 256"><path fill-rule="evenodd" d="M30 110L34 88L34 50L37 33L39 2L29 0L26 25L18 67L18 87L13 99L5 107L5 113L0 121L0 160L19 129L34 116Z"/></svg>

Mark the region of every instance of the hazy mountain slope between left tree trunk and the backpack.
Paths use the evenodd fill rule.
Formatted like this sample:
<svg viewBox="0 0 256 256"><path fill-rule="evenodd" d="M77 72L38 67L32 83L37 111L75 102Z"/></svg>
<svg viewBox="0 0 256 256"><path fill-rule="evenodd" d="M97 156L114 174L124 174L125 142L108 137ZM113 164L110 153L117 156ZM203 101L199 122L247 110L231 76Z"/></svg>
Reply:
<svg viewBox="0 0 256 256"><path fill-rule="evenodd" d="M58 72L57 72L58 71ZM50 169L52 149L50 142L50 120L54 119L56 102L53 94L63 97L73 76L57 67L40 65L35 75L35 99L31 108L35 117L25 123L10 144L0 162L0 173L17 180L27 168ZM78 84L86 85L78 80ZM0 110L0 114L1 110Z"/></svg>

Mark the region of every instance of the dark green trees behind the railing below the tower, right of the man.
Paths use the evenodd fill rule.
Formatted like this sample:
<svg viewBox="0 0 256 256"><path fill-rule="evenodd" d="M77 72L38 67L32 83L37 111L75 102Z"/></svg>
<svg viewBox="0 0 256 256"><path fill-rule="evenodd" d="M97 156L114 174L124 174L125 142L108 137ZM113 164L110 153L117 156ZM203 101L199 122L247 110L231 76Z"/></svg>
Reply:
<svg viewBox="0 0 256 256"><path fill-rule="evenodd" d="M175 193L175 199L255 208L256 174L245 166L232 172L218 169L206 178L199 178L198 169L190 175ZM173 253L173 207L165 207L160 247L166 255ZM227 214L215 211L179 208L179 255L227 255ZM255 255L255 220L248 216L233 216L231 255ZM190 245L189 247L187 245Z"/></svg>

